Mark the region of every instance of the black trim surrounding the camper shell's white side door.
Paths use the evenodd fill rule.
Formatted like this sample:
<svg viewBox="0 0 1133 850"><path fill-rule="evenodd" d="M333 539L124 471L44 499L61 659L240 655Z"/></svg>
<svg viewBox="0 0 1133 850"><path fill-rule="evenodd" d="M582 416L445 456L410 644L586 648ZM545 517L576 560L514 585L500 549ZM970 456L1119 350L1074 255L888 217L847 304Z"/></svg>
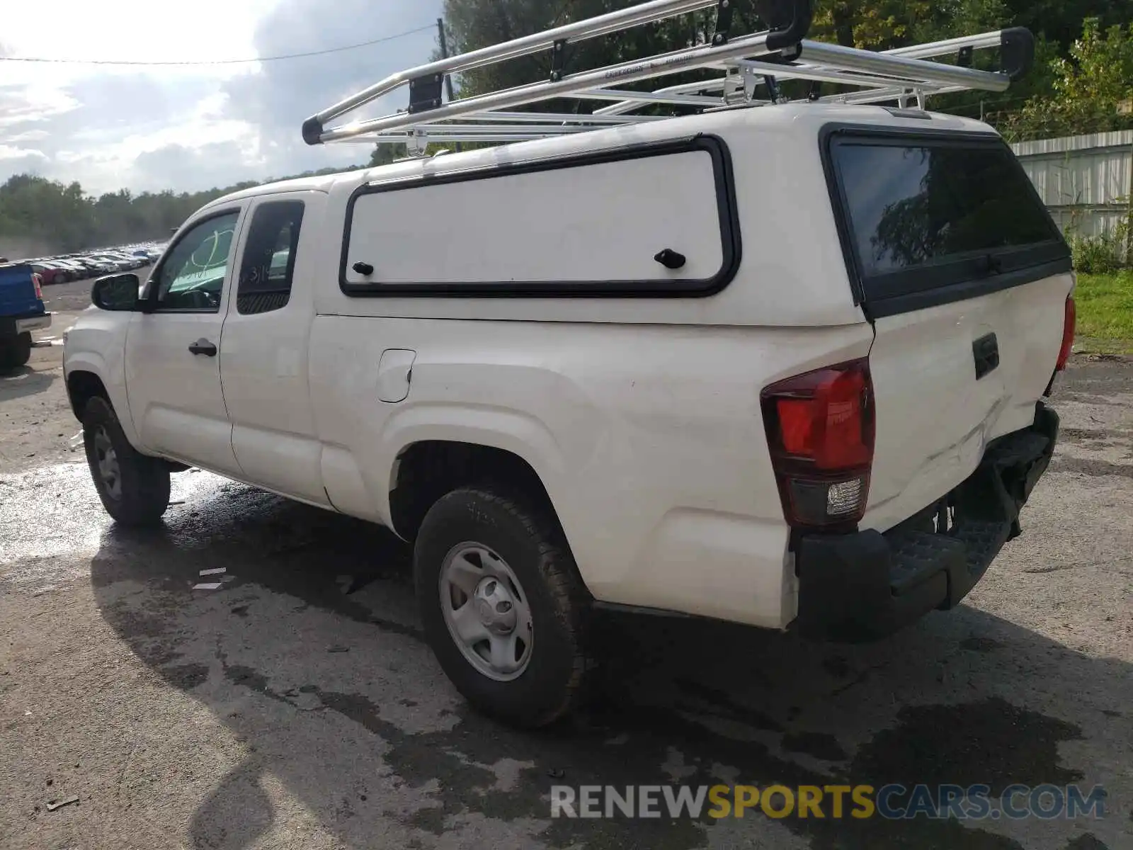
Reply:
<svg viewBox="0 0 1133 850"><path fill-rule="evenodd" d="M347 280L350 250L350 231L355 203L359 197L383 192L406 192L428 186L441 186L496 177L557 171L560 169L623 162L651 156L704 151L712 156L716 184L717 211L722 262L719 270L705 279L674 280L594 280L594 281L443 281L432 283L351 283ZM548 203L555 203L548 198ZM339 288L350 297L441 297L441 298L704 298L722 291L735 278L742 256L739 206L735 199L735 180L727 145L714 135L699 134L689 138L659 143L629 145L571 156L492 165L483 169L458 171L416 179L393 180L384 184L365 184L350 195L342 231L342 255L339 263ZM658 246L663 248L665 246Z"/></svg>

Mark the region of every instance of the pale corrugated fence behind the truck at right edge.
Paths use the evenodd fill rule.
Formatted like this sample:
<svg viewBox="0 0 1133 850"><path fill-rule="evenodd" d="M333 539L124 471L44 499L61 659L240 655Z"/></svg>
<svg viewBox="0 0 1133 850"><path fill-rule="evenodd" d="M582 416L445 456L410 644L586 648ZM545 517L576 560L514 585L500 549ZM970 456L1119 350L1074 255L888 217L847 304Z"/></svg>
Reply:
<svg viewBox="0 0 1133 850"><path fill-rule="evenodd" d="M1058 226L1111 232L1133 211L1133 130L1012 145Z"/></svg>

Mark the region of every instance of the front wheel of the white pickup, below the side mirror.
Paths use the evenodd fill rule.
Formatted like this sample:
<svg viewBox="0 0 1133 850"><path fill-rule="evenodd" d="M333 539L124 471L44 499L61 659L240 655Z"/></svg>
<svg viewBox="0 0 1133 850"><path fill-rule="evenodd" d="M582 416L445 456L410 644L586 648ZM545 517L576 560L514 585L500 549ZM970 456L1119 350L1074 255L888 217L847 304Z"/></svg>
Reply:
<svg viewBox="0 0 1133 850"><path fill-rule="evenodd" d="M169 508L169 468L130 445L114 409L97 396L83 411L83 443L107 513L123 526L160 522Z"/></svg>

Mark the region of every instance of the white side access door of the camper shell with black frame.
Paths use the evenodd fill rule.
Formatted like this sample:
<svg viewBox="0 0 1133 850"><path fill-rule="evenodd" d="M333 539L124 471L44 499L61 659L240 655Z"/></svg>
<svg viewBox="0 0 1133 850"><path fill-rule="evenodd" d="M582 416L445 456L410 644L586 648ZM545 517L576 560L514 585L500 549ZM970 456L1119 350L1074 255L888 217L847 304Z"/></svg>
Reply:
<svg viewBox="0 0 1133 850"><path fill-rule="evenodd" d="M353 297L704 297L740 264L723 139L377 181L347 205Z"/></svg>

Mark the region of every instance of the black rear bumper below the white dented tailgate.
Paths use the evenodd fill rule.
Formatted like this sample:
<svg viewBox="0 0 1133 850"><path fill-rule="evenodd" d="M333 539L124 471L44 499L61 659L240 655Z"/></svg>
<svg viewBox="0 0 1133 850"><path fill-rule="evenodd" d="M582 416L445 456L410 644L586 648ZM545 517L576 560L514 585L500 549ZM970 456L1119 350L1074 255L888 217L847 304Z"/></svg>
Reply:
<svg viewBox="0 0 1133 850"><path fill-rule="evenodd" d="M976 473L948 494L953 527L944 534L932 530L934 508L885 534L801 537L794 628L817 639L864 643L959 605L1020 534L1020 510L1057 440L1058 416L1040 403L1033 426L991 443Z"/></svg>

